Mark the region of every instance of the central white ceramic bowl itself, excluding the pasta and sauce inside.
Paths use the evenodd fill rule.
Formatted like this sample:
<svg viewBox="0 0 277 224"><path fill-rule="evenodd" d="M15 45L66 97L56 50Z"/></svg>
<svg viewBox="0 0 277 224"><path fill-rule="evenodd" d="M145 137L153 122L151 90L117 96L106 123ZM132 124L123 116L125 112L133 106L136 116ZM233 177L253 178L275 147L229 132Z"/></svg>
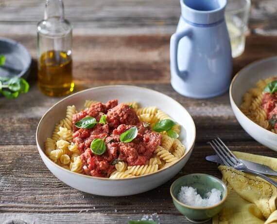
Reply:
<svg viewBox="0 0 277 224"><path fill-rule="evenodd" d="M44 142L52 135L55 124L63 119L68 105L83 108L86 99L106 102L138 101L140 106L156 106L172 116L181 126L180 140L186 146L185 155L173 166L156 173L136 178L110 180L74 173L56 165L44 153ZM36 130L36 144L39 154L49 170L61 181L78 190L104 196L126 196L138 194L158 187L175 176L187 163L195 141L195 125L190 114L171 97L153 90L135 86L103 86L72 94L56 103L41 118Z"/></svg>

